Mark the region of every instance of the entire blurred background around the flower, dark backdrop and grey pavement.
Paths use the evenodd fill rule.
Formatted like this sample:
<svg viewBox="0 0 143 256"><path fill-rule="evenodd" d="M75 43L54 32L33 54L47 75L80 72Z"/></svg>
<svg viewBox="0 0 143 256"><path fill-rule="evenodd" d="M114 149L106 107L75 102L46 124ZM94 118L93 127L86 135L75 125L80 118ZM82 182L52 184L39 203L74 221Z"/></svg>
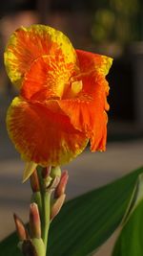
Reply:
<svg viewBox="0 0 143 256"><path fill-rule="evenodd" d="M108 75L111 87L108 151L92 154L87 150L68 166L71 176L68 198L105 184L143 163L143 1L3 1L0 9L1 239L14 228L11 211L18 211L27 220L30 198L29 184L21 185L24 165L10 143L5 126L6 111L16 91L6 75L3 53L10 34L22 25L33 23L61 30L71 38L74 48L114 59ZM3 221L4 216L7 223Z"/></svg>

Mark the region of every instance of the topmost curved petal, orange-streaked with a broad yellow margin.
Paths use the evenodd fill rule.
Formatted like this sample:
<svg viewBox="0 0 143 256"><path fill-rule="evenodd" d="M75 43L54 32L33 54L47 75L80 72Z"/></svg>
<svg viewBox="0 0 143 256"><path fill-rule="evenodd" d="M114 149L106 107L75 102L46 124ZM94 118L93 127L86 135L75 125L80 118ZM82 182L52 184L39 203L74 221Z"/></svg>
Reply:
<svg viewBox="0 0 143 256"><path fill-rule="evenodd" d="M21 27L11 36L5 51L5 65L10 81L18 88L31 63L43 55L64 56L66 63L76 62L76 54L69 38L44 25Z"/></svg>

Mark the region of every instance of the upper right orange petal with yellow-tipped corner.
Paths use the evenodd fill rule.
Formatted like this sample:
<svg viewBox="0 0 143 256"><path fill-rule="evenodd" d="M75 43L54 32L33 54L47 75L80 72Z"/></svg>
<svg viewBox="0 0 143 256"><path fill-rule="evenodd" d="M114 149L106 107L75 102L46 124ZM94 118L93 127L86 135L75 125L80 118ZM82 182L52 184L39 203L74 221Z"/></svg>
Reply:
<svg viewBox="0 0 143 256"><path fill-rule="evenodd" d="M82 50L76 50L76 55L81 73L91 73L91 71L95 71L106 76L112 66L112 58L107 56L93 54Z"/></svg>

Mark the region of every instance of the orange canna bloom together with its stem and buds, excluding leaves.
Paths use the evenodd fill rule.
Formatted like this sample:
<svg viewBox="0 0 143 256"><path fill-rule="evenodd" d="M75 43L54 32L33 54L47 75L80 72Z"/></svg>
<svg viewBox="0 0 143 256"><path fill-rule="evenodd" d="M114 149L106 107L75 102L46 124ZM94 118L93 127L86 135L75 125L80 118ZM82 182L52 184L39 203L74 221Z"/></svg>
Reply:
<svg viewBox="0 0 143 256"><path fill-rule="evenodd" d="M61 32L32 25L10 36L5 65L18 89L7 127L26 161L23 181L30 178L32 190L29 230L14 215L19 247L23 255L45 256L51 221L66 197L69 175L59 166L81 153L89 140L92 151L106 149L105 77L112 58L74 50Z"/></svg>

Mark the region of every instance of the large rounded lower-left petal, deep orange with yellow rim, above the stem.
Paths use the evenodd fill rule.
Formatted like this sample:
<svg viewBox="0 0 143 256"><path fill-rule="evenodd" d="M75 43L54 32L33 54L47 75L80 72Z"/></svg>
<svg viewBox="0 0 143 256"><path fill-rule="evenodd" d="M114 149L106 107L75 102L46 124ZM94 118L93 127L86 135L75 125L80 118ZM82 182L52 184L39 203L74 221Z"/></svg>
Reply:
<svg viewBox="0 0 143 256"><path fill-rule="evenodd" d="M84 150L88 139L75 129L56 101L15 98L7 115L10 138L22 158L42 166L62 165Z"/></svg>

